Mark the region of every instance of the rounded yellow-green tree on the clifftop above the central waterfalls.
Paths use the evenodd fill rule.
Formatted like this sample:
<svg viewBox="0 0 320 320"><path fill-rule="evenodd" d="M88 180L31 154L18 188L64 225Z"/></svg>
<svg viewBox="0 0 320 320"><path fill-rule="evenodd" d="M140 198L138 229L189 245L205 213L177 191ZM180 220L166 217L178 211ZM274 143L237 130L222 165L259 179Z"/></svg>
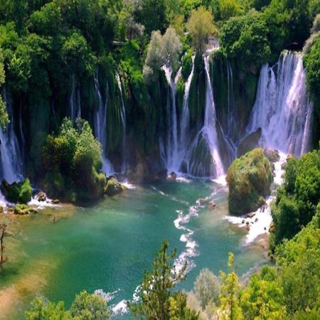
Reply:
<svg viewBox="0 0 320 320"><path fill-rule="evenodd" d="M191 34L193 47L196 48L199 53L203 53L206 50L208 37L215 35L217 32L217 29L213 25L211 11L206 10L203 6L191 11L187 29Z"/></svg>

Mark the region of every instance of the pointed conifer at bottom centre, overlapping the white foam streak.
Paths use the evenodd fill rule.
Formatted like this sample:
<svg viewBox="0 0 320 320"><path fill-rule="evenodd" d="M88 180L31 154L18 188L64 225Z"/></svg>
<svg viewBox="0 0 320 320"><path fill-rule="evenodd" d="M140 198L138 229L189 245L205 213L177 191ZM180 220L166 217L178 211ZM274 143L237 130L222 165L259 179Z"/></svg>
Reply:
<svg viewBox="0 0 320 320"><path fill-rule="evenodd" d="M137 319L147 320L196 320L198 314L186 306L186 294L172 292L176 283L183 281L186 264L180 269L172 265L176 250L167 253L168 242L154 255L151 272L144 272L137 304L128 302L129 309Z"/></svg>

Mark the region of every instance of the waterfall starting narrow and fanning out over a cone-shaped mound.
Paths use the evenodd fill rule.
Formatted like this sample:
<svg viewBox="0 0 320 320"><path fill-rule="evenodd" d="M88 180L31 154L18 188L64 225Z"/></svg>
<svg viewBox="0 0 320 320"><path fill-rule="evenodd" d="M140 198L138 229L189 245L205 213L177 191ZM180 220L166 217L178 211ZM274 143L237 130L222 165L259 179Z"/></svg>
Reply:
<svg viewBox="0 0 320 320"><path fill-rule="evenodd" d="M188 173L196 176L218 177L224 174L218 144L218 122L210 80L209 56L203 57L206 71L206 110L204 124L188 151Z"/></svg>

